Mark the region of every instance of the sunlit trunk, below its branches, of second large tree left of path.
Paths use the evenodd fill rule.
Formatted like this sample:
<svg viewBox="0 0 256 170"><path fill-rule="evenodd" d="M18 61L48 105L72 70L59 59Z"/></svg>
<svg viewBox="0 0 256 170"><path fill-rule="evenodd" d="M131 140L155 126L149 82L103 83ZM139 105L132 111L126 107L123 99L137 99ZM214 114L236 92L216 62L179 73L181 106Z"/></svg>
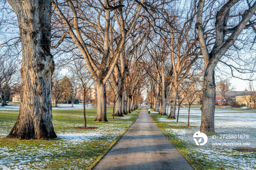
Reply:
<svg viewBox="0 0 256 170"><path fill-rule="evenodd" d="M101 81L96 82L97 86L97 116L94 121L107 120L106 85Z"/></svg>

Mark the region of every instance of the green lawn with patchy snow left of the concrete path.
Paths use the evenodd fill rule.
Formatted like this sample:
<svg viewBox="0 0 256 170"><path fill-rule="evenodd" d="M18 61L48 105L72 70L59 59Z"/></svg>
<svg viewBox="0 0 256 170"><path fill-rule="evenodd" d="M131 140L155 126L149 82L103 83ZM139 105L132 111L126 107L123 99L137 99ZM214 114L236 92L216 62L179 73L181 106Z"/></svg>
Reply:
<svg viewBox="0 0 256 170"><path fill-rule="evenodd" d="M54 140L6 139L18 117L17 109L0 108L0 169L92 169L138 117L140 109L124 117L111 119L113 107L107 108L108 122L94 122L97 108L87 108L87 127L83 110L53 110Z"/></svg>

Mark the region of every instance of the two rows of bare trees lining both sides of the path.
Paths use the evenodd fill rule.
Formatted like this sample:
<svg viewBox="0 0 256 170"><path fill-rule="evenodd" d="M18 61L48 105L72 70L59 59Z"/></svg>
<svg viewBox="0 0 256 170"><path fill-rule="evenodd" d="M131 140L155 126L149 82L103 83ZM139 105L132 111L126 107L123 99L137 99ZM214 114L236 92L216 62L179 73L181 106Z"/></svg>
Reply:
<svg viewBox="0 0 256 170"><path fill-rule="evenodd" d="M228 66L232 76L236 76L234 71L254 72L248 66L242 69L241 59L251 62L255 58L237 57L244 45L254 47L255 39L245 38L253 37L248 35L255 30L254 0L8 2L19 26L19 40L12 42L20 42L22 49L20 111L9 138L56 137L50 97L55 65L71 70L79 62L77 68L86 66L83 73L90 76L76 75L85 79L81 80L84 92L89 79L96 84L95 121L107 121L107 82L115 93L115 115L135 109L135 98L147 84L154 108L158 109L159 103L161 114L166 114L170 97L169 117L175 118L181 82L203 70L202 131L214 131L214 70L218 62ZM78 73L77 68L74 72Z"/></svg>

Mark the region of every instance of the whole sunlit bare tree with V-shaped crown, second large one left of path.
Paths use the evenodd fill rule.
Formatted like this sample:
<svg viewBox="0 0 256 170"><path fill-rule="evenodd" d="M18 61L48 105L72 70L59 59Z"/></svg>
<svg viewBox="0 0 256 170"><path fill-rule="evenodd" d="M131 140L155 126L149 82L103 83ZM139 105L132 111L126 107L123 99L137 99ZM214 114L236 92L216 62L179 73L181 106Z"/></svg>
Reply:
<svg viewBox="0 0 256 170"><path fill-rule="evenodd" d="M140 3L144 3L144 0ZM127 38L132 34L142 7L136 2L108 0L104 0L104 4L101 1L76 0L61 4L52 1L52 4L57 12L56 16L66 27L60 41L53 48L58 47L66 36L74 41L97 84L98 107L95 121L107 121L105 84Z"/></svg>

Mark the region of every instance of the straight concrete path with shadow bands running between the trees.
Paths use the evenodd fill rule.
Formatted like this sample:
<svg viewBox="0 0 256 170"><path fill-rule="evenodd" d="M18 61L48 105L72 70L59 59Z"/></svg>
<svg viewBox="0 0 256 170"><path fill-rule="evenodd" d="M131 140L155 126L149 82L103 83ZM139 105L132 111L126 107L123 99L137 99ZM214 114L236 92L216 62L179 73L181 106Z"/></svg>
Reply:
<svg viewBox="0 0 256 170"><path fill-rule="evenodd" d="M137 120L99 161L94 170L193 170L142 108Z"/></svg>

